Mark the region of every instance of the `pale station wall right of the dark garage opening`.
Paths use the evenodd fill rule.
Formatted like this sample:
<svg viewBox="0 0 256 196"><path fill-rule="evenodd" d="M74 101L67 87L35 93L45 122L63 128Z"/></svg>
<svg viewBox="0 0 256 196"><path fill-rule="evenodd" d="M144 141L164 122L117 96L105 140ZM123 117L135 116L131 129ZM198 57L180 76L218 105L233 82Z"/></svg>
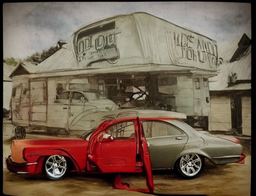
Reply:
<svg viewBox="0 0 256 196"><path fill-rule="evenodd" d="M175 96L175 107L178 112L186 115L194 115L194 92L192 78L186 76L177 77L177 85L161 86L160 92L168 92Z"/></svg>

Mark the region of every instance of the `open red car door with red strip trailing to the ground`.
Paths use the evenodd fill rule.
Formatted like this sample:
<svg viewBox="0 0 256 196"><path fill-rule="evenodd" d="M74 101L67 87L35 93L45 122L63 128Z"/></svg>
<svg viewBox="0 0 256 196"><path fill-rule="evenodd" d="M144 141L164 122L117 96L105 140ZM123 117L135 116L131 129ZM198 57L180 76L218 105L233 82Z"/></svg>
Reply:
<svg viewBox="0 0 256 196"><path fill-rule="evenodd" d="M117 175L114 188L153 192L148 146L141 134L138 118L102 123L90 137L87 155L88 163L96 166L102 173L146 172L148 189L131 189L129 184L121 183L121 174Z"/></svg>

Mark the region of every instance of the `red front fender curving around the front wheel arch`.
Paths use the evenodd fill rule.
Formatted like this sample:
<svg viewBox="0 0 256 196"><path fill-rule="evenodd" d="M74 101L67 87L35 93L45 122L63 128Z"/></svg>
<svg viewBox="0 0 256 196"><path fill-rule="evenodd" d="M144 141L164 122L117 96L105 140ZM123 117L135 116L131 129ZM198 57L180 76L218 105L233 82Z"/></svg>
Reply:
<svg viewBox="0 0 256 196"><path fill-rule="evenodd" d="M72 155L70 155L68 152L62 150L62 149L56 149L56 150L44 150L44 149L35 149L35 148L25 148L23 150L24 156L27 159L28 163L35 163L37 162L36 168L35 168L35 173L40 173L42 172L42 164L43 160L46 156L51 156L51 155L61 155L61 156L66 156L68 157L72 163L74 164L74 167L78 174L81 175L81 169L79 168L76 160ZM32 153L33 152L33 153Z"/></svg>

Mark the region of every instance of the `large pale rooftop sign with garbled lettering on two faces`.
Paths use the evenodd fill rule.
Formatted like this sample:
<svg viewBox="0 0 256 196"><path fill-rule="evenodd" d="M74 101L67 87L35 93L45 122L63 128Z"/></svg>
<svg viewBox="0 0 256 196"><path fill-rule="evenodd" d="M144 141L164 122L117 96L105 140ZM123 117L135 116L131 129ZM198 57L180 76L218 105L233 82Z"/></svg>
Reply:
<svg viewBox="0 0 256 196"><path fill-rule="evenodd" d="M216 41L147 13L112 17L71 38L78 68L138 65L216 71Z"/></svg>

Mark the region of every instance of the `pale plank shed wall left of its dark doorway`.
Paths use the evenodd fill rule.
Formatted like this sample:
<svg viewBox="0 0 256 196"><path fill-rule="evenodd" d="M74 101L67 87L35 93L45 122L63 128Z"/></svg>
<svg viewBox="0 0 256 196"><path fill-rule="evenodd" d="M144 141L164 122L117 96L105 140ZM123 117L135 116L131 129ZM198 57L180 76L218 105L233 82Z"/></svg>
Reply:
<svg viewBox="0 0 256 196"><path fill-rule="evenodd" d="M211 101L211 121L209 130L229 131L231 126L231 109L229 96L212 96Z"/></svg>

